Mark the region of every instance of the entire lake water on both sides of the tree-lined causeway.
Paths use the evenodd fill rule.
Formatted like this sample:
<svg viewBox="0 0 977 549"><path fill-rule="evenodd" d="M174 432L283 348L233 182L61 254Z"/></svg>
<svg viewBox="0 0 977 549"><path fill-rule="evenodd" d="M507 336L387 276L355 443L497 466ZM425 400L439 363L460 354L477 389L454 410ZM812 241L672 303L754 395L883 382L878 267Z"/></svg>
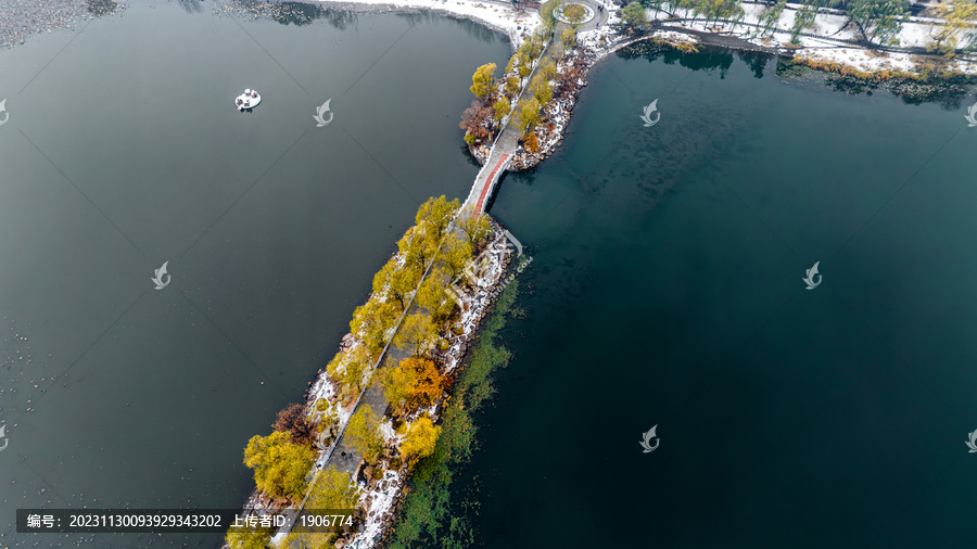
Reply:
<svg viewBox="0 0 977 549"><path fill-rule="evenodd" d="M330 21L150 3L0 52L0 515L238 507L244 444L331 357L417 204L467 194L457 120L507 44ZM504 180L492 214L533 263L457 487L481 546L972 544L977 133L761 68L611 56L558 153ZM158 539L3 525L14 547Z"/></svg>

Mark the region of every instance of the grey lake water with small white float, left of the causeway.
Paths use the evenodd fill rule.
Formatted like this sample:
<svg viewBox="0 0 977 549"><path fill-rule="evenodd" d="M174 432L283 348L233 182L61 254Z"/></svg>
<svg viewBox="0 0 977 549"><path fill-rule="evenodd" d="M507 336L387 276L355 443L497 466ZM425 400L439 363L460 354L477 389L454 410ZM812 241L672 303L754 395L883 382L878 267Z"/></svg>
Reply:
<svg viewBox="0 0 977 549"><path fill-rule="evenodd" d="M0 547L158 539L17 535L17 508L239 508L248 439L303 398L417 206L478 171L458 119L496 35L203 5L0 51Z"/></svg>

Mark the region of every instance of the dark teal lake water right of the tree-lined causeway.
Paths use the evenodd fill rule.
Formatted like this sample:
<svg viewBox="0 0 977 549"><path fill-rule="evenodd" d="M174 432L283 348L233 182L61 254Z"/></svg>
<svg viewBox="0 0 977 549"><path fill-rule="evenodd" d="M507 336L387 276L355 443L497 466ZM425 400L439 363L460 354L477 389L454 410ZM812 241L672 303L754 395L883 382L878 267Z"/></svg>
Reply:
<svg viewBox="0 0 977 549"><path fill-rule="evenodd" d="M683 62L601 63L500 187L534 261L458 495L482 545L972 547L965 108Z"/></svg>

